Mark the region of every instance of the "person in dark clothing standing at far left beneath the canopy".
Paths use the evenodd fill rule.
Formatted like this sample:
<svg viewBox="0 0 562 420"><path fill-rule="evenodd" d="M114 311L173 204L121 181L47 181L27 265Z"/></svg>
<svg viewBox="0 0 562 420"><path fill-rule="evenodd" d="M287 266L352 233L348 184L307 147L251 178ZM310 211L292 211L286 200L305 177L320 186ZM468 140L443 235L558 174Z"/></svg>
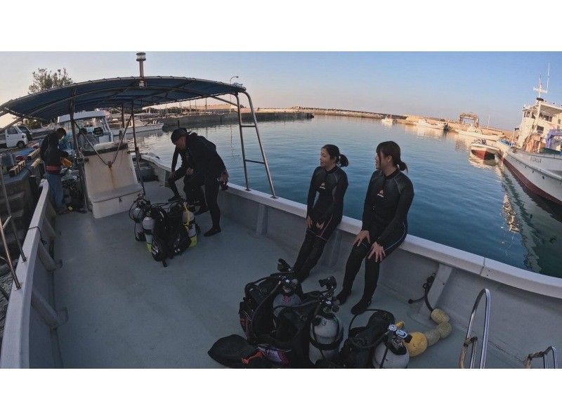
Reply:
<svg viewBox="0 0 562 420"><path fill-rule="evenodd" d="M58 145L58 142L64 136L65 131L58 129L46 136L41 143L41 157L45 162L45 176L58 214L64 214L68 211L64 202L63 182L60 177L60 159L67 157L68 153L60 150ZM46 147L43 148L44 144L46 144Z"/></svg>

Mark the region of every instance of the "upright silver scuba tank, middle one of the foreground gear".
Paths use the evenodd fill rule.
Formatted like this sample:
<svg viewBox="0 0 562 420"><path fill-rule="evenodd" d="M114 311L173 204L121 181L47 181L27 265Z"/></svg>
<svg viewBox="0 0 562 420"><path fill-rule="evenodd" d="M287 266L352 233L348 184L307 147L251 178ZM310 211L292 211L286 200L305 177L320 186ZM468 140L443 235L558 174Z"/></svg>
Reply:
<svg viewBox="0 0 562 420"><path fill-rule="evenodd" d="M339 344L344 337L344 328L335 314L339 307L332 301L336 280L328 277L320 280L320 286L327 286L328 296L320 302L311 322L308 357L313 365L322 359L336 360L339 357Z"/></svg>

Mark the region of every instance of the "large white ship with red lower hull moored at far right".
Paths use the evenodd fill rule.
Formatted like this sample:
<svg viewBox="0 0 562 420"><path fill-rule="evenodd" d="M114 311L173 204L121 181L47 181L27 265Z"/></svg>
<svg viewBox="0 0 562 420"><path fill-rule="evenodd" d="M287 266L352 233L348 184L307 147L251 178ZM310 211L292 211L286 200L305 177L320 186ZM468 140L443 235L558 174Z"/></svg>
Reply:
<svg viewBox="0 0 562 420"><path fill-rule="evenodd" d="M500 158L528 190L562 205L562 105L547 103L539 80L534 105L525 105L514 142L498 142Z"/></svg>

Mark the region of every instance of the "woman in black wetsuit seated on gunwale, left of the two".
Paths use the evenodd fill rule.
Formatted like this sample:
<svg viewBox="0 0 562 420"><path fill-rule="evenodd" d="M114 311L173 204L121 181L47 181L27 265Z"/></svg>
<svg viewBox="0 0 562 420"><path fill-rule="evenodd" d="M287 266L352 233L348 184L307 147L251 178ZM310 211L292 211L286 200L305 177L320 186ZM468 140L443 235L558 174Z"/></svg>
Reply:
<svg viewBox="0 0 562 420"><path fill-rule="evenodd" d="M341 169L348 166L345 155L335 145L320 150L320 166L313 172L306 200L306 235L299 256L293 265L297 280L302 282L318 263L325 244L344 215L344 195L347 175ZM318 199L315 200L318 192Z"/></svg>

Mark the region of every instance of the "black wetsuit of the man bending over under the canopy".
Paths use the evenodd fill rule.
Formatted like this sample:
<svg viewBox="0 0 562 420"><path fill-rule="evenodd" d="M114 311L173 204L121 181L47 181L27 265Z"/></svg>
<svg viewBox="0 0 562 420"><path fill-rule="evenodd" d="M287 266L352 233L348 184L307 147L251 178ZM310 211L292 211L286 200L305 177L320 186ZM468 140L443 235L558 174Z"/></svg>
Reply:
<svg viewBox="0 0 562 420"><path fill-rule="evenodd" d="M213 228L220 227L221 209L218 208L216 197L218 195L218 180L226 171L223 159L216 152L216 145L197 133L190 133L187 139L190 157L195 164L195 171L202 174L205 185L205 200L211 213Z"/></svg>

